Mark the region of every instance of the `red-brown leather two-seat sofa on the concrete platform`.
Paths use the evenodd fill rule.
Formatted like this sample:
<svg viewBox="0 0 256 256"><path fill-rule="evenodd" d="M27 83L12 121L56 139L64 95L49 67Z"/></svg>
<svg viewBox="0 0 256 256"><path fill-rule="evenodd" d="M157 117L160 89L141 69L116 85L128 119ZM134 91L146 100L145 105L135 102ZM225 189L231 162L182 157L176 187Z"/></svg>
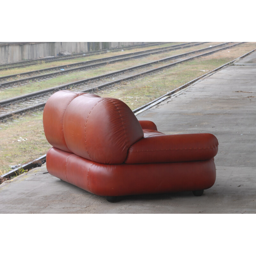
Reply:
<svg viewBox="0 0 256 256"><path fill-rule="evenodd" d="M53 146L48 172L108 201L178 191L201 196L215 182L214 135L165 135L121 100L59 91L47 101L43 122Z"/></svg>

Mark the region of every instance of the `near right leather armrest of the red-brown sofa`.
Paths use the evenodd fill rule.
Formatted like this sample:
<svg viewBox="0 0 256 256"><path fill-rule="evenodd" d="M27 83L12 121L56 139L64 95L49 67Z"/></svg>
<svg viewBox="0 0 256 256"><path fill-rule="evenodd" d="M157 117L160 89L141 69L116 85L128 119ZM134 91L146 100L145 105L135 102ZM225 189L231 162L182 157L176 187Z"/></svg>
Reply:
<svg viewBox="0 0 256 256"><path fill-rule="evenodd" d="M149 136L128 150L126 164L207 160L216 156L218 140L210 133Z"/></svg>

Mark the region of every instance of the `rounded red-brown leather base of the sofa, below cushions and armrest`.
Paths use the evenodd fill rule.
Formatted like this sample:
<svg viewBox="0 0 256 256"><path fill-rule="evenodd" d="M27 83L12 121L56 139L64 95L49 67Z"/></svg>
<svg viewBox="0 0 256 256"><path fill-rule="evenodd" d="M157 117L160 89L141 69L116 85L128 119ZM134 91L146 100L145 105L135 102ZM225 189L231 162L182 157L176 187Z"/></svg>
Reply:
<svg viewBox="0 0 256 256"><path fill-rule="evenodd" d="M201 190L212 187L216 179L212 158L180 163L99 164L62 152L57 148L48 151L48 172L100 196Z"/></svg>

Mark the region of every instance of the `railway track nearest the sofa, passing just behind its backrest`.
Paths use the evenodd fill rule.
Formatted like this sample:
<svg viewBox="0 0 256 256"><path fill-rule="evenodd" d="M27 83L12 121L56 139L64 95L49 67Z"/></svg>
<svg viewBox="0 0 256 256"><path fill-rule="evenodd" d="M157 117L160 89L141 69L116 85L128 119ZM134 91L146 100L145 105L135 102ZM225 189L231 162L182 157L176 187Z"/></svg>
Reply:
<svg viewBox="0 0 256 256"><path fill-rule="evenodd" d="M106 88L109 86L116 86L117 84L120 84L121 82L124 82L124 81L132 80L132 79L135 79L135 78L138 78L141 76L145 76L148 74L156 74L158 72L162 72L162 70L165 68L170 68L174 65L183 63L185 61L189 61L189 60L193 60L195 58L213 54L215 52L218 52L218 51L221 51L224 49L228 49L228 48L236 46L238 44L242 44L242 42L228 45L225 47L221 47L221 48L218 48L217 50L212 50L212 48L213 48L212 47L212 48L210 48L212 51L209 51L209 48L208 48L207 49L208 51L205 53L202 53L199 55L194 55L192 57L188 57L183 60L172 62L172 63L166 64L166 65L163 65L163 66L160 66L157 68L152 68L150 66L152 66L154 64L159 64L162 62L167 62L167 61L177 59L180 57L184 57L187 55L195 54L195 53L201 52L203 49L193 51L193 52L183 53L183 54L168 57L168 58L164 58L164 59L158 60L158 61L149 62L149 63L135 66L132 68L126 68L126 69L112 72L112 73L109 73L106 75L96 76L96 77L76 81L74 83L63 84L63 85L60 85L57 87L42 90L39 92L30 93L30 94L12 98L9 100L4 100L4 101L0 102L0 106L1 106L0 107L0 120L1 121L8 120L9 118L11 118L11 116L13 116L15 114L24 113L28 110L44 108L44 105L45 105L47 99L52 95L52 93L59 91L59 90L68 89L68 90L74 91L74 92L99 91L99 90L102 90L103 88ZM220 44L220 45L223 45L223 44ZM220 45L216 45L214 47L215 48L220 47Z"/></svg>

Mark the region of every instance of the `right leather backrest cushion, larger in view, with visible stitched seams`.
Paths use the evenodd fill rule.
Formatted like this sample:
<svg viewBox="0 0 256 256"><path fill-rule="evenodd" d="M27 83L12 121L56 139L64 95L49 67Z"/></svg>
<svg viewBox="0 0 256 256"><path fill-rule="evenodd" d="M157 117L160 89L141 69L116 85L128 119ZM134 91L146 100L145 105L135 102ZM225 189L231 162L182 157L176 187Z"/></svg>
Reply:
<svg viewBox="0 0 256 256"><path fill-rule="evenodd" d="M83 94L73 99L64 115L68 149L102 164L121 164L128 148L143 137L140 123L121 100Z"/></svg>

